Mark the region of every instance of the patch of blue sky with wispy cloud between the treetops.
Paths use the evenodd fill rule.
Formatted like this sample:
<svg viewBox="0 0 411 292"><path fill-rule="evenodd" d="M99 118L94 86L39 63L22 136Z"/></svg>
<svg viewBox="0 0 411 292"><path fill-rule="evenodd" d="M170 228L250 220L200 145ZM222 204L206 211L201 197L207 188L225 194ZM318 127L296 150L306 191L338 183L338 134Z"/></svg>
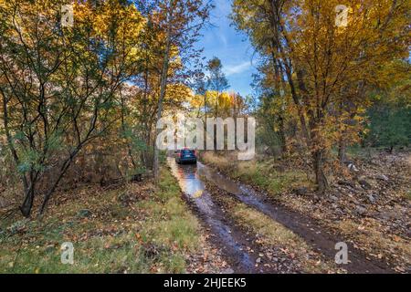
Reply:
<svg viewBox="0 0 411 292"><path fill-rule="evenodd" d="M252 74L257 72L252 65L253 47L248 37L230 26L231 0L214 0L216 8L211 13L211 23L198 43L204 47L206 60L216 56L223 63L230 89L245 96L252 93Z"/></svg>

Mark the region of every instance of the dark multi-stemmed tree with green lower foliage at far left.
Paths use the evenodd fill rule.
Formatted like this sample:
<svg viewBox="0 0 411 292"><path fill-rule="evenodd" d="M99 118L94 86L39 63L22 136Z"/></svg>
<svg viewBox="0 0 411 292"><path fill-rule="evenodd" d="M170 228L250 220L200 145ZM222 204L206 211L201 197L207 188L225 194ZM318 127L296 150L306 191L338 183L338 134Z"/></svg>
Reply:
<svg viewBox="0 0 411 292"><path fill-rule="evenodd" d="M59 22L62 1L0 1L0 97L7 146L31 214L40 214L90 141L118 116L118 89L139 62L143 18L123 1L74 4L74 27Z"/></svg>

